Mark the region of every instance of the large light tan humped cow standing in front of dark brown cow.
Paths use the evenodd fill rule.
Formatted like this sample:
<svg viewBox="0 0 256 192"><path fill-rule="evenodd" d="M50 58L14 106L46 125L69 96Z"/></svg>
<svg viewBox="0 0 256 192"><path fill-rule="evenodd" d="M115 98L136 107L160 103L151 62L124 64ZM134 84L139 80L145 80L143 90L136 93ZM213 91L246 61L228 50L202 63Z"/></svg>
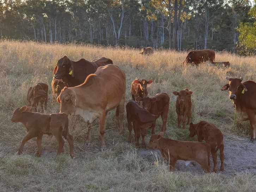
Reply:
<svg viewBox="0 0 256 192"><path fill-rule="evenodd" d="M62 89L57 101L61 104L60 113L78 115L87 122L87 145L91 143L92 122L99 117L101 150L105 150L106 120L108 112L115 108L119 130L123 133L125 91L126 76L123 70L116 65L109 64L99 67L94 74L86 78L83 84Z"/></svg>

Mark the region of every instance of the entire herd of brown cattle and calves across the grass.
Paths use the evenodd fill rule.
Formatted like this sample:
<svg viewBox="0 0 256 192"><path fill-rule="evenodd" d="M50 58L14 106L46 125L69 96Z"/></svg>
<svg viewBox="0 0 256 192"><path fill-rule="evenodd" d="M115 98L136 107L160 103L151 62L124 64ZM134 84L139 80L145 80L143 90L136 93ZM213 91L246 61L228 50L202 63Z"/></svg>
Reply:
<svg viewBox="0 0 256 192"><path fill-rule="evenodd" d="M151 47L143 48L142 55L153 54ZM213 50L190 51L184 62L194 63L198 66L204 61L215 63ZM229 62L221 62L225 67ZM24 144L33 137L37 137L37 154L41 155L42 136L47 134L55 136L58 142L57 155L63 149L64 140L68 141L70 156L74 157L73 137L68 130L68 115L80 116L87 123L88 134L86 144L91 144L91 128L96 118L99 118L99 133L101 136L101 150L106 149L104 132L109 111L116 108L115 118L119 131L123 133L124 103L126 95L126 75L122 69L114 65L112 60L99 57L95 60L71 61L67 56L57 61L54 68L54 77L51 83L53 99L60 103L60 113L37 113L38 104L42 110L47 107L48 85L38 82L28 89L27 100L29 107L23 106L13 112L12 122L21 122L26 128L27 134L22 140L18 154L22 154ZM250 120L251 140L255 140L256 130L256 83L245 81L242 78L226 78L229 83L221 88L221 91L229 90L229 98L236 105L236 111L241 120ZM147 145L148 148L157 148L168 162L170 171L175 168L177 160L196 161L205 172L210 172L210 153L213 158L213 171L217 171L217 151L220 152L220 171L224 171L224 144L223 134L213 124L202 121L197 124L190 123L191 95L188 88L181 91L173 91L177 96L176 112L178 128L185 129L186 120L189 125L190 137L197 135L197 141L177 141L163 138L166 131L167 116L169 113L170 97L167 93L158 93L154 97L148 97L147 85L153 80L135 79L131 84L132 100L126 104L128 122L128 142L132 142L132 127L134 130L135 145L139 147L139 138L142 137L142 147L146 148L144 140L147 129L152 129L152 136ZM30 112L33 108L34 112ZM161 132L155 134L157 118L161 116L163 121ZM205 140L206 143L201 143Z"/></svg>

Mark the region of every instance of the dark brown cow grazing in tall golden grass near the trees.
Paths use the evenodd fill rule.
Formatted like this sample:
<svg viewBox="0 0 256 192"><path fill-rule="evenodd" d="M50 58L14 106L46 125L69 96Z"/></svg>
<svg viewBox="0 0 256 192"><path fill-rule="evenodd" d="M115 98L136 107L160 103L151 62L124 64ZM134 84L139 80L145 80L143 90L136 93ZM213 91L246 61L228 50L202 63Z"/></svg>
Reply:
<svg viewBox="0 0 256 192"><path fill-rule="evenodd" d="M212 63L215 61L215 52L211 49L190 51L183 63L194 63L196 66L198 66L199 63L208 60Z"/></svg>

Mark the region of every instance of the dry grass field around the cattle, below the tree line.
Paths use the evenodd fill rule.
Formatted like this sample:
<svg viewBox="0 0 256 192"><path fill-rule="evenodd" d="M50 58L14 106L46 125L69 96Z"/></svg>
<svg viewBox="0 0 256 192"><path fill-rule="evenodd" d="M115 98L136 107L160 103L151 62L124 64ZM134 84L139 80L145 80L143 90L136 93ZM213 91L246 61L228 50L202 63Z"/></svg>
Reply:
<svg viewBox="0 0 256 192"><path fill-rule="evenodd" d="M187 52L154 51L152 56L141 56L138 49L103 48L89 45L60 45L0 42L0 191L256 191L256 142L248 144L249 122L240 122L234 114L227 91L220 88L230 78L243 77L256 81L256 58L217 53L215 61L229 61L230 67L216 67L210 63L199 67L182 62ZM151 96L166 92L170 96L167 131L164 137L196 141L186 130L177 128L176 96L173 91L189 88L192 95L191 122L201 120L214 123L224 134L224 172L169 172L161 161L147 161L132 144L128 144L127 120L124 134L120 135L111 111L105 130L107 150L100 151L98 120L93 123L92 142L85 145L86 127L80 117L69 116L69 130L74 137L75 159L69 157L69 145L60 156L55 156L57 141L43 136L42 156L37 158L35 140L25 144L23 154L17 155L25 136L21 123L12 123L17 107L27 105L26 94L37 82L49 85L47 113L58 113L60 105L52 102L50 88L53 69L59 58L67 55L71 60L110 58L126 73L126 103L131 99L130 86L135 78L153 79L148 87ZM40 111L39 107L39 111ZM160 118L156 132L160 132ZM145 137L149 141L151 130ZM147 150L147 149L146 149ZM212 159L211 159L212 162ZM220 167L218 156L218 169ZM212 166L211 166L212 170Z"/></svg>

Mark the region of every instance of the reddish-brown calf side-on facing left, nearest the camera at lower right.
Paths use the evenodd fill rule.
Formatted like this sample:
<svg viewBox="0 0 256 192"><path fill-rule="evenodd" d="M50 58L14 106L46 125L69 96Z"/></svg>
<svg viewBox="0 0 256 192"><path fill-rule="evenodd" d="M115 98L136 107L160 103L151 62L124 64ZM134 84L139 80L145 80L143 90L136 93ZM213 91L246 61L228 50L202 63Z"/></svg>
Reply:
<svg viewBox="0 0 256 192"><path fill-rule="evenodd" d="M170 171L174 171L177 160L196 161L206 173L210 172L210 146L197 141L178 141L162 137L163 132L152 135L148 148L159 149L161 155L169 163Z"/></svg>

